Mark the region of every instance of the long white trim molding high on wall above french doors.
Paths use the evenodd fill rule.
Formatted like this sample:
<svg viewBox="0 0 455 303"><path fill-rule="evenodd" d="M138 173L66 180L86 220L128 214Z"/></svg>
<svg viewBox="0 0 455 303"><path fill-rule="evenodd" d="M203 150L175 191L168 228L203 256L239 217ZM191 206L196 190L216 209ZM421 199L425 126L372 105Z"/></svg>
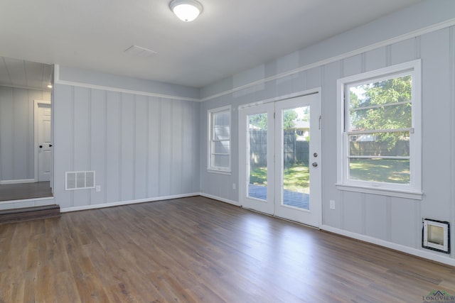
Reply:
<svg viewBox="0 0 455 303"><path fill-rule="evenodd" d="M270 76L270 77L267 77L267 78L264 78L264 79L259 79L259 80L254 81L254 82L243 84L243 85L240 85L240 87L234 87L232 89L228 89L225 92L219 92L218 94L213 94L211 96L204 97L204 98L200 99L199 101L208 101L210 99L215 99L215 98L218 98L218 97L222 97L222 96L225 96L226 94L232 94L232 93L238 92L238 91L240 91L242 89L255 87L258 84L264 84L266 82L270 82L270 81L274 81L274 80L281 79L281 78L284 78L284 77L288 77L288 76L297 74L299 72L304 72L305 70L311 70L314 67L320 67L320 66L323 66L323 65L327 65L329 63L333 63L333 62L336 62L338 60L343 60L343 59L346 59L348 57L352 57L352 56L355 56L355 55L360 55L360 54L368 52L370 50L375 50L377 48L382 48L384 46L391 45L393 43L398 43L398 42L401 42L403 40L407 40L407 39L410 39L410 38L416 38L419 35L424 35L426 33L432 33L434 31L439 31L439 30L441 30L443 28L449 28L450 26L454 26L454 25L455 25L455 18L451 18L451 19L443 21L441 23L436 23L436 24L433 24L431 26L426 26L424 28L420 28L418 30L411 31L410 33L397 35L397 36L395 36L393 38L389 38L389 39L386 39L386 40L382 40L382 41L380 41L378 43L373 43L373 44L364 46L363 48L358 48L358 49L355 49L355 50L351 50L349 52L342 53L341 55L336 55L336 56L329 57L329 58L324 59L324 60L319 60L317 62L310 63L309 65L304 65L304 66L301 66L301 67L297 67L294 70L288 70L287 72L281 72L281 73L279 73L277 75L274 75L274 76ZM299 50L296 50L296 51L299 51Z"/></svg>

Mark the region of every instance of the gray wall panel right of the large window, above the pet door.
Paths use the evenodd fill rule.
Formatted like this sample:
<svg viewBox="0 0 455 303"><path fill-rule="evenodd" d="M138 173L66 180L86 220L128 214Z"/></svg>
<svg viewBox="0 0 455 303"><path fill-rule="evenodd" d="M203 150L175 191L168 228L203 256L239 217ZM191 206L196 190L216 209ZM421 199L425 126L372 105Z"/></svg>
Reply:
<svg viewBox="0 0 455 303"><path fill-rule="evenodd" d="M423 157L422 179L424 200L422 216L446 221L450 219L451 150L449 28L422 35L421 53L423 77Z"/></svg>

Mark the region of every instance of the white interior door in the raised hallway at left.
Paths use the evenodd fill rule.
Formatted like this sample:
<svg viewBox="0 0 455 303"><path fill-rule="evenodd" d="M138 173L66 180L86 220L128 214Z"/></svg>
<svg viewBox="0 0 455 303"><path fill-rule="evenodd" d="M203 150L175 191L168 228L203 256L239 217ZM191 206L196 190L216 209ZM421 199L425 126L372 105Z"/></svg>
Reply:
<svg viewBox="0 0 455 303"><path fill-rule="evenodd" d="M38 181L50 181L52 143L50 104L38 103Z"/></svg>

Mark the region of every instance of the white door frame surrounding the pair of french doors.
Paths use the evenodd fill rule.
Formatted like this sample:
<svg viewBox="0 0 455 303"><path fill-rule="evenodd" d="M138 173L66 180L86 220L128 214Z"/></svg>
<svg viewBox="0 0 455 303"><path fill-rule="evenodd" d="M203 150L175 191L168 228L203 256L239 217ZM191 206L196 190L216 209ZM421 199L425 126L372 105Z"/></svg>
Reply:
<svg viewBox="0 0 455 303"><path fill-rule="evenodd" d="M321 131L321 107L322 107L322 104L321 104L321 101L322 101L322 98L321 98L321 88L316 88L316 89L309 89L309 90L306 90L304 92L298 92L298 93L294 93L294 94L289 94L289 95L286 95L286 96L282 96L282 97L277 97L277 98L272 98L272 99L267 99L267 100L264 100L264 101L259 101L259 102L253 102L251 104L245 104L245 105L241 105L239 106L239 204L240 206L244 206L245 204L245 197L247 196L247 189L246 189L246 183L247 183L247 180L246 180L246 176L242 175L242 172L245 172L245 165L247 165L248 162L246 162L246 160L244 159L245 158L245 144L246 143L246 135L245 133L242 133L245 131L245 121L242 121L242 115L241 114L245 114L245 109L249 108L249 107L252 107L252 106L258 106L258 105L261 105L261 104L267 104L267 103L274 103L274 102L277 102L277 101L283 101L283 100L286 100L286 99L293 99L293 98L296 98L296 97L304 97L306 95L309 95L309 94L317 94L317 102L318 102L318 107L319 107L319 116L318 117L314 117L312 116L312 122L313 124L315 123L314 119L316 119L316 125L319 124L319 142L317 142L316 144L318 144L319 148L319 160L317 161L319 163L317 169L319 170L319 172L316 172L316 182L319 182L319 186L317 187L317 191L315 196L318 197L318 200L319 201L316 201L316 203L314 203L314 206L317 208L316 209L316 213L315 213L315 216L317 218L316 221L312 221L311 226L314 226L316 228L319 228L322 224L322 165L321 165L321 162L322 162L322 159L321 159L321 149L322 149L322 131ZM248 112L248 111L247 111ZM242 128L243 127L243 128ZM274 145L274 143L273 143ZM277 155L274 155L275 157ZM248 157L247 157L248 158ZM310 160L311 160L311 157L310 157ZM273 170L275 170L275 163L272 164L273 165ZM272 166L270 165L270 166ZM269 165L267 165L269 166ZM269 167L271 168L271 167ZM245 188L244 188L245 187ZM273 187L273 186L272 186ZM243 190L242 190L243 189ZM272 189L273 192L276 192L277 189L274 188ZM275 193L274 193L275 194ZM268 197L267 197L267 200ZM273 204L274 204L274 211L273 211L273 214L272 215L275 215L275 201L273 201ZM261 211L259 209L256 209L258 211ZM262 212L265 212L265 213L268 213L269 214L269 211L262 211ZM291 219L292 220L292 219ZM302 222L304 223L304 222ZM305 223L304 223L305 224Z"/></svg>

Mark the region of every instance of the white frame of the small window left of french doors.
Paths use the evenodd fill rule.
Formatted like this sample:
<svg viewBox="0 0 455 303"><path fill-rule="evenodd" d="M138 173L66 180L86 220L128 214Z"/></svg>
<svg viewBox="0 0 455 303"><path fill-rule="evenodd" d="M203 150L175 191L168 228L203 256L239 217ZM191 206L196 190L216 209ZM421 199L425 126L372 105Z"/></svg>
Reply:
<svg viewBox="0 0 455 303"><path fill-rule="evenodd" d="M212 163L212 155L214 155L215 153L213 153L212 151L212 148L213 148L213 142L215 142L214 138L213 138L213 133L214 133L214 130L213 130L213 116L215 116L215 114L222 114L222 113L227 113L229 114L229 138L228 139L225 139L225 140L219 140L219 141L228 141L229 142L229 145L230 145L230 149L229 149L229 165L228 167L220 167L220 166L215 166L213 165ZM222 107L218 107L216 109L208 109L207 111L207 120L208 120L208 159L207 159L207 170L208 172L218 172L220 174L227 174L227 175L230 175L230 173L232 172L232 162L231 162L231 158L232 158L232 111L231 111L231 106L228 105L228 106L222 106Z"/></svg>

